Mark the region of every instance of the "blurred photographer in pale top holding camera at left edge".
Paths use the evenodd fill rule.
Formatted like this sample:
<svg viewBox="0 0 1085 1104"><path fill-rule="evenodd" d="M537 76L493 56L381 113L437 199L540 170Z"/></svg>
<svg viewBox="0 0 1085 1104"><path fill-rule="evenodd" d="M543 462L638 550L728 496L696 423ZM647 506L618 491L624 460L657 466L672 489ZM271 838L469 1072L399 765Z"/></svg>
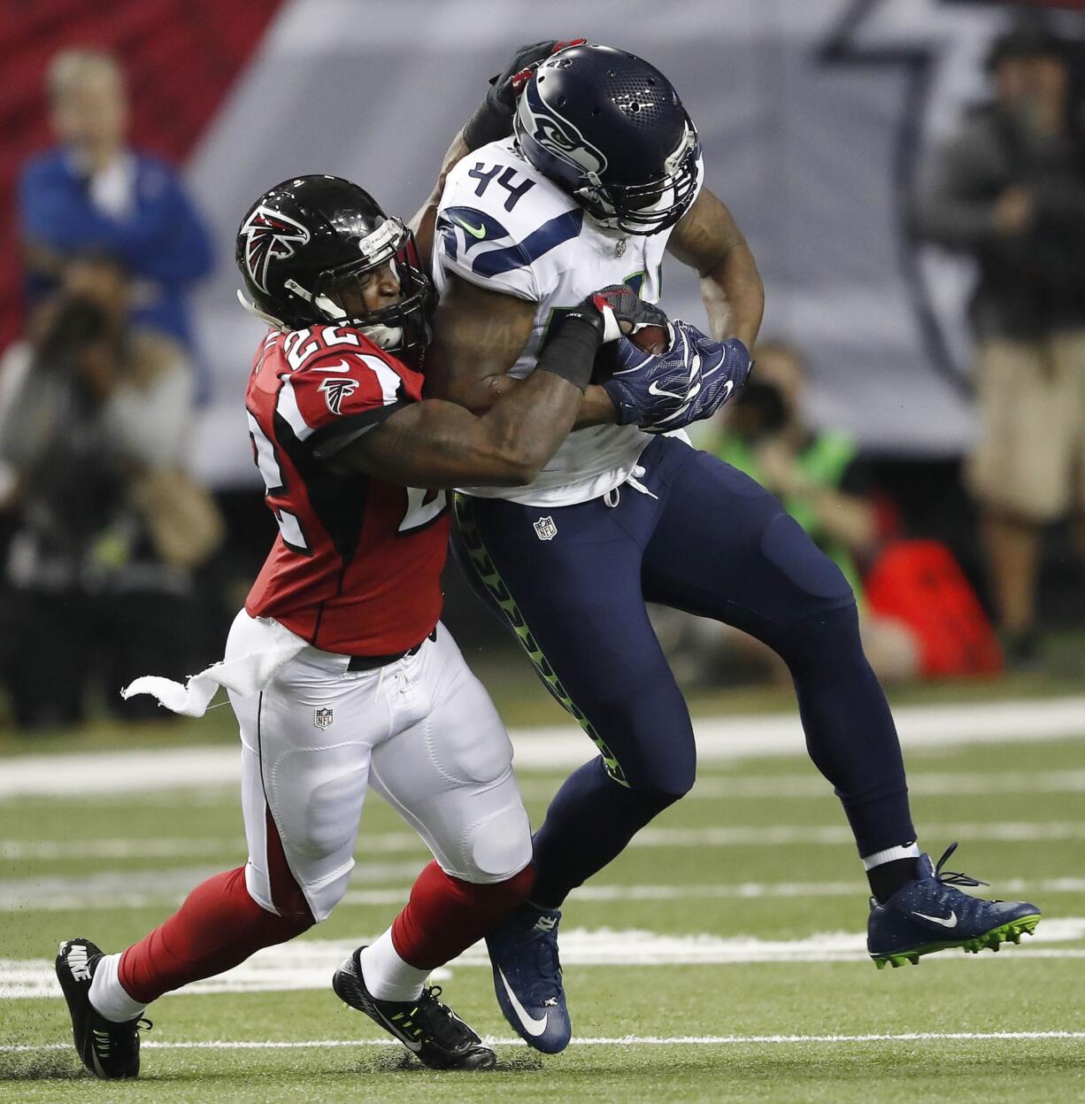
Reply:
<svg viewBox="0 0 1085 1104"><path fill-rule="evenodd" d="M113 712L145 715L119 688L189 664L191 569L220 520L181 470L190 363L129 322L129 286L111 259L71 262L0 362L0 505L18 517L4 668L22 728L81 721L99 675Z"/></svg>

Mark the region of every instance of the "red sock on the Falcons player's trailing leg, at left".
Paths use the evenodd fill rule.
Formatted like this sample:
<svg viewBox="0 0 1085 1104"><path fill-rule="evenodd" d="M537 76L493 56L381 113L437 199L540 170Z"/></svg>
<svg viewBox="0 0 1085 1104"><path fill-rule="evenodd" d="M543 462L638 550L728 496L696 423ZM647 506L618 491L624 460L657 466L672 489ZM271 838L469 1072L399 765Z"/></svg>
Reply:
<svg viewBox="0 0 1085 1104"><path fill-rule="evenodd" d="M201 882L164 924L120 957L117 977L134 999L149 1005L163 992L212 977L262 947L300 935L311 915L266 912L245 888L245 868Z"/></svg>

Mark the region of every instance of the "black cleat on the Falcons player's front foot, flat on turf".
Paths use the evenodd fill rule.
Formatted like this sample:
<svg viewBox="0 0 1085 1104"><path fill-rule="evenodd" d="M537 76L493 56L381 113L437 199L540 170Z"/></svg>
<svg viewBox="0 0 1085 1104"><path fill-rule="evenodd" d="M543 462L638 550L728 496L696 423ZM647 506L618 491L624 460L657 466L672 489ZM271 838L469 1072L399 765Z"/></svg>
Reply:
<svg viewBox="0 0 1085 1104"><path fill-rule="evenodd" d="M395 1036L423 1065L432 1070L491 1070L497 1055L437 997L440 986L424 989L417 1000L377 1000L365 988L359 947L336 970L331 987L351 1008L364 1012Z"/></svg>

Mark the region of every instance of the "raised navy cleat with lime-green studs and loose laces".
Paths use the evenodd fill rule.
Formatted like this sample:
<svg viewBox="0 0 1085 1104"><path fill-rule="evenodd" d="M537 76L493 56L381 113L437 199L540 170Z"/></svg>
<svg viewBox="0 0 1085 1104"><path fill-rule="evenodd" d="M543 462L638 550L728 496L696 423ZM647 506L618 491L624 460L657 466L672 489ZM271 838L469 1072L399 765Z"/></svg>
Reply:
<svg viewBox="0 0 1085 1104"><path fill-rule="evenodd" d="M1040 910L1028 901L985 901L961 893L958 885L987 885L968 874L942 872L956 843L935 867L929 854L916 859L914 881L885 902L873 899L866 927L866 949L879 969L886 964L916 965L921 955L960 947L978 954L1001 943L1020 943L1040 923Z"/></svg>

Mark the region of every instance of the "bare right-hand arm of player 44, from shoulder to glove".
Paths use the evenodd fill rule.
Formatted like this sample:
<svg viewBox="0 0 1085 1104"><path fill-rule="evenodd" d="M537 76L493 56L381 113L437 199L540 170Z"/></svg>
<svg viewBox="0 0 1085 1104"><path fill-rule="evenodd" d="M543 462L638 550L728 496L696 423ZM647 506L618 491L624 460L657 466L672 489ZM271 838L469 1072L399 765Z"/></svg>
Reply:
<svg viewBox="0 0 1085 1104"><path fill-rule="evenodd" d="M708 188L679 220L667 248L700 275L712 336L738 338L752 348L760 329L765 288L746 238Z"/></svg>

